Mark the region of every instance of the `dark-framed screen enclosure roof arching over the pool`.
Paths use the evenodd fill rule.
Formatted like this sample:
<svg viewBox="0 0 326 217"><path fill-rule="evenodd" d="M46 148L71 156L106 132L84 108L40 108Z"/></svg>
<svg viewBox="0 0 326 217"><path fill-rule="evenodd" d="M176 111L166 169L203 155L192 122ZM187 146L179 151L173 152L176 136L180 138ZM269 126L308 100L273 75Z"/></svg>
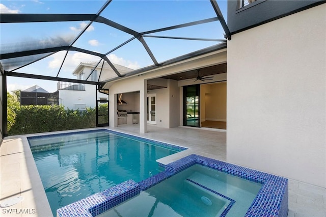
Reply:
<svg viewBox="0 0 326 217"><path fill-rule="evenodd" d="M11 1L2 1L6 3ZM76 80L72 72L80 62L97 61L99 67L105 62L113 74L99 72L95 83L90 76L78 81L99 84L225 48L226 39L231 39L216 1L55 4L55 13L44 13L40 7L29 14L0 14L0 63L6 75L71 81ZM80 4L83 7L77 7ZM122 74L116 64L133 70ZM207 67L201 73L223 73L224 68ZM171 78L194 77L193 73L197 71Z"/></svg>

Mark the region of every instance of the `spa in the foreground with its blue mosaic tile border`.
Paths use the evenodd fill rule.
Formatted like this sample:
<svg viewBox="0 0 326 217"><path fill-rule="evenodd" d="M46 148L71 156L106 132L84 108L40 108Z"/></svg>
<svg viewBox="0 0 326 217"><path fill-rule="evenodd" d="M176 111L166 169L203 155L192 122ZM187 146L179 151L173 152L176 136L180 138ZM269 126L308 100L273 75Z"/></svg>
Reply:
<svg viewBox="0 0 326 217"><path fill-rule="evenodd" d="M257 187L259 188L259 191L257 195L251 195L252 196L251 198L254 198L253 201L251 201L251 199L248 199L247 196L241 198L242 193L240 193L240 195L237 195L237 192L235 192L234 194L233 193L229 194L225 192L223 186L220 187L218 186L218 184L215 183L215 181L213 182L210 181L212 178L211 175L209 175L210 176L209 178L206 177L207 174L205 176L198 175L196 173L198 171L197 169L195 169L194 170L195 172L193 171L189 175L186 169L194 165L201 165L206 168L210 168L214 170L213 173L217 173L219 176L220 173L218 171L245 179L245 183L247 181L252 181L254 182L254 184L253 183L249 184L251 185L249 189L253 190L250 191L250 194L254 194L255 192L257 192ZM181 175L181 178L177 177L176 180L177 182L180 182L180 180L183 183L187 182L188 186L191 185L189 187L193 189L192 191L197 191L196 194L192 195L192 197L195 196L197 199L200 197L200 201L195 202L196 206L198 207L199 206L198 204L200 204L201 206L203 206L203 204L209 206L210 203L212 204L214 203L214 207L212 207L213 209L215 208L215 206L221 208L218 210L216 209L212 210L212 212L211 212L212 208L210 208L209 211L207 212L206 210L207 207L204 206L205 207L204 209L200 208L196 211L197 213L199 213L199 216L206 216L206 214L209 213L212 213L212 216L234 216L234 215L236 216L238 215L240 216L287 216L288 180L286 178L271 175L261 171L252 170L249 168L240 167L237 165L229 164L227 162L210 159L196 154L183 157L179 160L171 162L168 165L162 165L162 166L165 167L165 171L160 172L155 176L152 176L138 183L132 180L125 181L116 186L108 188L103 192L91 195L90 197L87 197L83 200L77 201L73 204L69 204L63 208L60 208L57 210L57 214L59 217L97 216L97 215L107 216L108 212L112 212L112 210L110 209L114 207L113 212L110 214L113 214L113 216L115 216L115 214L118 214L118 216L123 216L121 215L122 213L120 213L119 210L121 211L121 209L124 206L125 208L124 212L128 213L128 211L131 211L134 216L137 216L138 211L145 212L146 209L148 210L148 207L154 207L151 206L151 204L153 203L155 204L155 202L153 202L153 200L155 199L149 198L148 194L157 192L157 188L160 188L159 191L160 193L158 193L157 196L159 199L164 197L169 197L170 199L168 199L167 200L168 202L166 202L168 204L183 203L185 200L182 198L182 194L186 194L187 191L184 191L183 187L178 187L178 183L175 183L173 177L174 176L177 177L179 173L182 174L183 173L182 171L186 171L185 176ZM234 179L234 177L228 179ZM169 192L170 190L169 186L171 187L171 183L172 185L175 185L172 186L172 188L175 191L177 191L177 193L173 191L172 193ZM233 181L233 183L236 183L234 185L238 186L238 181L235 182ZM162 185L165 186L164 191L162 191L163 189ZM226 186L225 184L222 185ZM196 190L194 190L194 188ZM204 188L204 191L202 188ZM246 188L246 190L244 191L248 191L248 188ZM161 192L163 192L163 194L161 194ZM229 197L226 195L229 195ZM144 199L146 197L148 199L147 201ZM240 199L238 199L239 197ZM142 198L144 200L142 200ZM128 199L131 200L127 201ZM243 199L245 200L244 202L246 202L246 200L249 200L250 204L247 203L246 205L243 205L239 203L239 201ZM130 201L132 200L134 202L130 203ZM124 201L127 202L123 203ZM140 205L137 205L139 204L139 201L143 203L142 204L143 208ZM126 205L127 203L130 204ZM191 209L193 208L190 207L192 206L191 204L192 202L185 201L185 203L181 204L181 206L180 205L172 205L172 206L176 206L177 209L179 209L180 207L182 208L184 206L189 207L188 209ZM246 206L246 207L242 207L238 209L235 208L236 206L240 206L240 207ZM155 206L154 208L157 207L158 206ZM146 215L155 216L154 208L150 209L149 214L145 214L145 216ZM169 207L164 207L164 208L165 208L164 211L163 210L157 211L158 215L162 213L169 213L171 214L171 216L179 215L179 213L175 214L178 211L171 209L172 208L171 206L170 208ZM191 214L190 216L193 215Z"/></svg>

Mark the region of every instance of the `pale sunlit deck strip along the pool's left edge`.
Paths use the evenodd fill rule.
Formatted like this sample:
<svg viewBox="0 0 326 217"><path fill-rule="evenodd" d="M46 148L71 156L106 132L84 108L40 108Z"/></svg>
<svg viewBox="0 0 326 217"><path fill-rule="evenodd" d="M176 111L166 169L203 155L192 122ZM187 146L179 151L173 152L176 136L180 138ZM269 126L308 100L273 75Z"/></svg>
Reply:
<svg viewBox="0 0 326 217"><path fill-rule="evenodd" d="M6 193L1 193L1 201L3 202L16 196L22 196L23 200L20 203L6 208L16 210L16 214L19 214L18 212L20 211L25 211L28 212L29 216L53 216L26 136L13 135L11 137L6 137L2 141L0 148L5 148L4 143L7 143L6 145L11 146L10 152L12 153L8 155L19 154L17 157L19 158L17 159L19 161L19 171L14 171L15 176L5 176L3 175L3 170L1 170L1 180L6 179L6 181L10 180L11 183L15 183L14 178L19 177L20 181L18 187L17 185L8 186L8 188L11 189L10 192L15 192L15 194L7 195ZM17 150L14 150L16 148ZM1 158L3 157L5 157L5 155L1 155ZM1 161L2 160L3 159L1 159ZM8 167L9 165L11 164L8 164L7 162L5 164L1 164L1 167ZM2 213L6 208L2 207ZM19 216L20 215L21 213ZM10 216L16 215L15 213L12 213Z"/></svg>

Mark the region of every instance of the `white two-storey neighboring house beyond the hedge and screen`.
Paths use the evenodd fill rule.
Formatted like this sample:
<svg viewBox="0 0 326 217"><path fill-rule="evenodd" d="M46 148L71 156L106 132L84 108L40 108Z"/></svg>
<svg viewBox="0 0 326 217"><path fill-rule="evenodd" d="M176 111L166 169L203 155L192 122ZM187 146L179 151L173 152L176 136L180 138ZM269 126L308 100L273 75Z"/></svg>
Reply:
<svg viewBox="0 0 326 217"><path fill-rule="evenodd" d="M96 64L97 62L82 62L76 67L72 74L75 75L78 80L89 80L92 82L96 82L98 79L104 80L110 78L107 77L107 75L112 74L111 67L108 67L107 63L104 64L100 75L98 72L101 71L102 66L99 65L93 70ZM132 69L127 67L117 64L114 65L119 71L132 71ZM101 100L102 102L108 100L108 95L98 92L95 85L58 82L58 91L59 104L72 110L84 111L86 107L96 107L96 100Z"/></svg>

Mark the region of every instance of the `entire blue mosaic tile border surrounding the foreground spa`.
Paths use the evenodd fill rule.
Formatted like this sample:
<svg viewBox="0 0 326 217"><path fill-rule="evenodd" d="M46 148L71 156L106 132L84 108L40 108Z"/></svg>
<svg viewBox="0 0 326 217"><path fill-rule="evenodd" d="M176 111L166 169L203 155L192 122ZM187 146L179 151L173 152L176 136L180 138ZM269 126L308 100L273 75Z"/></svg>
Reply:
<svg viewBox="0 0 326 217"><path fill-rule="evenodd" d="M288 179L196 154L188 155L168 165L159 164L159 166L165 167L164 172L139 183L128 180L103 192L64 206L57 210L57 216L96 216L195 164L262 184L245 216L287 216Z"/></svg>

